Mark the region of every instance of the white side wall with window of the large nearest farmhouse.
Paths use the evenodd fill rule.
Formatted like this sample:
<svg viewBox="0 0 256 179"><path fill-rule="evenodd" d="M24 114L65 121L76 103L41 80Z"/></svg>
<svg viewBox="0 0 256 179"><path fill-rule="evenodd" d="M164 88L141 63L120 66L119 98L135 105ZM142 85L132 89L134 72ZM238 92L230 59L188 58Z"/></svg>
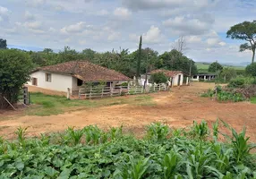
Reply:
<svg viewBox="0 0 256 179"><path fill-rule="evenodd" d="M51 72L33 72L30 74L30 79L38 79L38 87L47 89L47 90L57 90L57 91L67 91L67 88L70 88L71 91L73 87L77 86L77 81L73 80L73 76L66 74L51 73L51 81L46 81L46 73ZM75 83L75 85L74 85ZM32 85L31 81L28 81L29 85Z"/></svg>

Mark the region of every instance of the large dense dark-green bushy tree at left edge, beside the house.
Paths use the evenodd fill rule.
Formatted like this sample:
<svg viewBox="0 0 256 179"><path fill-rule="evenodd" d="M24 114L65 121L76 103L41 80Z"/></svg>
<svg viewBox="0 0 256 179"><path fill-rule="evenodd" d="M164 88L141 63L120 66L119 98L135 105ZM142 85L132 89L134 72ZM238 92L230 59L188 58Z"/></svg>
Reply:
<svg viewBox="0 0 256 179"><path fill-rule="evenodd" d="M29 80L32 62L30 55L17 50L0 50L0 108L18 101L22 85Z"/></svg>

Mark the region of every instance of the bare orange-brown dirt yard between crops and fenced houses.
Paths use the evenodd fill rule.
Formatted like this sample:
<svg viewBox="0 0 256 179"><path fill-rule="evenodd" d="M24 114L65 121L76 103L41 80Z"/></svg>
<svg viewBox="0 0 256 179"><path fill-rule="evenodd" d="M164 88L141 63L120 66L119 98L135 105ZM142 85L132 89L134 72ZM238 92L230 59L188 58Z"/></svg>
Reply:
<svg viewBox="0 0 256 179"><path fill-rule="evenodd" d="M256 142L256 105L250 102L218 103L215 100L200 97L199 94L203 90L213 87L214 84L209 83L192 83L192 86L175 88L172 92L150 94L157 103L156 107L126 104L88 108L63 115L17 115L16 118L0 121L0 135L13 138L13 132L18 126L29 127L28 133L32 136L41 132L63 131L67 126L82 128L97 124L107 129L110 126L123 124L126 131L135 132L141 136L145 125L156 121L176 128L188 127L193 121L200 122L202 119L209 122L211 126L211 123L219 118L238 131L246 126L251 141ZM223 127L221 130L227 132Z"/></svg>

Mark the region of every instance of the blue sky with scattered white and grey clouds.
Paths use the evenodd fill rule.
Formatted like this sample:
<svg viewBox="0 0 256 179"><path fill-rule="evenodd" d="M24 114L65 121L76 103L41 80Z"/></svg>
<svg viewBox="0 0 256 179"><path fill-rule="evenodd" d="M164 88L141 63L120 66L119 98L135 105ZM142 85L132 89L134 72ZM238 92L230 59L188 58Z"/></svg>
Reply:
<svg viewBox="0 0 256 179"><path fill-rule="evenodd" d="M251 62L227 39L235 23L256 19L256 0L1 0L0 38L9 47L96 51L143 47L159 53L185 36L185 55L198 62Z"/></svg>

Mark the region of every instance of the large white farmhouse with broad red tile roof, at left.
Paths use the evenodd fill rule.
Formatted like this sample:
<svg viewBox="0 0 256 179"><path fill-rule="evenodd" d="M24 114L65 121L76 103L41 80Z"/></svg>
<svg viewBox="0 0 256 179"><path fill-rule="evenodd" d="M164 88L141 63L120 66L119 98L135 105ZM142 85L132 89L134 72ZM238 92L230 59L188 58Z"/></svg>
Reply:
<svg viewBox="0 0 256 179"><path fill-rule="evenodd" d="M109 70L87 61L70 61L63 64L54 64L40 67L30 74L29 85L42 89L76 93L84 81L97 84L106 81L107 86L132 81L120 72Z"/></svg>

